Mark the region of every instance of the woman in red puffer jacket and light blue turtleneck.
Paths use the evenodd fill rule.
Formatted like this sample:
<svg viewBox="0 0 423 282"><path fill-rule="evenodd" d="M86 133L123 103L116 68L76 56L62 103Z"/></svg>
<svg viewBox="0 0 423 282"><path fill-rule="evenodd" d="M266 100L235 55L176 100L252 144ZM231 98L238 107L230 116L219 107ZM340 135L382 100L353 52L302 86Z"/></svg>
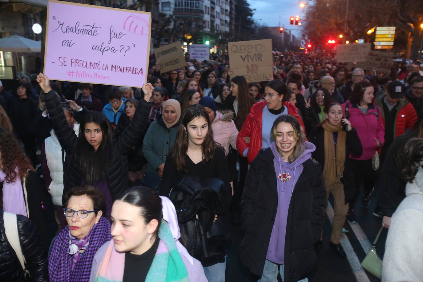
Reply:
<svg viewBox="0 0 423 282"><path fill-rule="evenodd" d="M269 81L264 89L264 101L251 107L250 114L245 119L236 140L239 153L247 157L249 163L253 162L261 149L269 148L272 143L270 129L280 115L294 116L304 129L297 108L286 101L287 93L285 83L280 80Z"/></svg>

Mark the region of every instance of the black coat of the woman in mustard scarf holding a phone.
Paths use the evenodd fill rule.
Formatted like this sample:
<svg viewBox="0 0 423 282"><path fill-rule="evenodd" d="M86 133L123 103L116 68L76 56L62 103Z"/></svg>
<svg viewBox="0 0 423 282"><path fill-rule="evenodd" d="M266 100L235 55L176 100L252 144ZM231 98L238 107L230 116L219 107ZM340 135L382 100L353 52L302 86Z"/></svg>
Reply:
<svg viewBox="0 0 423 282"><path fill-rule="evenodd" d="M309 141L316 146L316 151L311 153L313 159L319 162L321 171L324 167L324 129L321 126L316 126L310 132ZM360 156L363 153L363 146L358 137L357 130L353 127L350 131L346 131L346 148L345 148L345 166L343 172L343 186L345 203L349 203L354 197L354 174L352 166L349 162L349 153L354 156ZM335 162L335 160L333 160Z"/></svg>

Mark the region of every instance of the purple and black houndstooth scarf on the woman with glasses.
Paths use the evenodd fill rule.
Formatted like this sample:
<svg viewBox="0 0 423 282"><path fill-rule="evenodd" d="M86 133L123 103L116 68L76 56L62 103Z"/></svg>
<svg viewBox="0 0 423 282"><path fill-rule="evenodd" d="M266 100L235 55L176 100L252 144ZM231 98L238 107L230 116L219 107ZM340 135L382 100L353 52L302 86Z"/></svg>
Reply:
<svg viewBox="0 0 423 282"><path fill-rule="evenodd" d="M101 217L91 230L91 235L88 233L82 241L76 239L77 246L80 245L78 250L88 244L89 240L89 245L86 246L87 248L82 255L77 254L78 258L69 254L71 247L69 245L69 226L60 231L53 243L49 257L50 282L88 282L90 280L94 255L104 243L112 239L110 223L104 217ZM83 243L85 239L87 241Z"/></svg>

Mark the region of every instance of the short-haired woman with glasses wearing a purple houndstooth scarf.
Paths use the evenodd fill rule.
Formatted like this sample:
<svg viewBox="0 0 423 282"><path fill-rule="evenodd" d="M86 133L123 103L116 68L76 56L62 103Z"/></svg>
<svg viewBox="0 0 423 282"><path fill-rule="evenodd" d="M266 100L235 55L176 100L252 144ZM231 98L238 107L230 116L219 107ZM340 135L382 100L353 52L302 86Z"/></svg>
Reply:
<svg viewBox="0 0 423 282"><path fill-rule="evenodd" d="M52 242L49 254L50 282L88 282L93 258L112 239L110 222L103 215L106 196L93 186L82 185L64 196L68 225Z"/></svg>

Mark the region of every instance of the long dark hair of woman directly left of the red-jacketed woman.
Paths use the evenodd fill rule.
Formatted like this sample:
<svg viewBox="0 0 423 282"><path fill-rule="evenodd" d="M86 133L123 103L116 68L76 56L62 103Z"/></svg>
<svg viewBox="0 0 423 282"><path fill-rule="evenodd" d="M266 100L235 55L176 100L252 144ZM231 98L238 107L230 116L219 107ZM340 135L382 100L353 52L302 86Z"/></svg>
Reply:
<svg viewBox="0 0 423 282"><path fill-rule="evenodd" d="M236 113L235 125L238 130L241 130L244 120L253 107L254 98L250 95L245 77L237 75L231 79L231 82L238 85L238 112Z"/></svg>

